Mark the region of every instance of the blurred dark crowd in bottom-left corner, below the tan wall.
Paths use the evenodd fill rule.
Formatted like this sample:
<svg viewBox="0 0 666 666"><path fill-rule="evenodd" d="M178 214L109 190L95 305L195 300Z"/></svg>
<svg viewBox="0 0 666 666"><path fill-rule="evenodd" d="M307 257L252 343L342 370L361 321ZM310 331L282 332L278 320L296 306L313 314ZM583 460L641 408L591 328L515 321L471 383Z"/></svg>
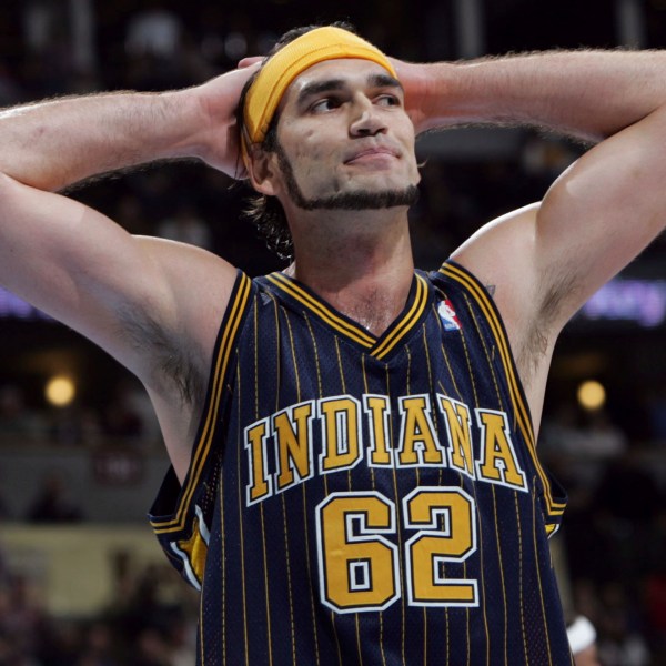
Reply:
<svg viewBox="0 0 666 666"><path fill-rule="evenodd" d="M113 586L114 598L95 617L54 617L39 582L0 559L0 664L194 664L198 599L169 564L139 566L118 553Z"/></svg>

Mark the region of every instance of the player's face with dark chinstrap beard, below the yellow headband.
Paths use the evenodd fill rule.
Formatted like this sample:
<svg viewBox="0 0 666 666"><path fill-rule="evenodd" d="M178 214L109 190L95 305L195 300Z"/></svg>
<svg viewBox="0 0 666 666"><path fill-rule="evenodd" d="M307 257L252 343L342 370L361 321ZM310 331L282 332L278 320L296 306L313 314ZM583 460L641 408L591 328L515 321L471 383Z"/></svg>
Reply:
<svg viewBox="0 0 666 666"><path fill-rule="evenodd" d="M280 109L279 190L297 208L411 205L420 180L414 127L397 81L360 59L319 63Z"/></svg>

